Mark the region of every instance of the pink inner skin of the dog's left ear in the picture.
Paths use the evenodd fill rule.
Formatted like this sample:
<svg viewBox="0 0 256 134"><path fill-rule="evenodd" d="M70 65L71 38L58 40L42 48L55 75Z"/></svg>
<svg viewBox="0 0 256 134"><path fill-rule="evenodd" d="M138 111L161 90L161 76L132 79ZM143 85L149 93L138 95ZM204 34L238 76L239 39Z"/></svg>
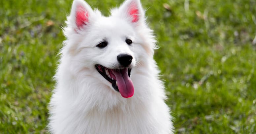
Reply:
<svg viewBox="0 0 256 134"><path fill-rule="evenodd" d="M76 24L78 28L82 27L82 25L85 25L85 22L88 22L88 16L89 14L83 7L77 7Z"/></svg>

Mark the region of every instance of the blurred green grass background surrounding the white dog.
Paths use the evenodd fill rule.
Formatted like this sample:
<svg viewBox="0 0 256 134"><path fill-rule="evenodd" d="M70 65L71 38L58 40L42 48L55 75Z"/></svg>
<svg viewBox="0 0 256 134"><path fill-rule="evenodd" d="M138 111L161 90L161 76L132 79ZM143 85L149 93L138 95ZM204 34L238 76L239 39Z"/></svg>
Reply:
<svg viewBox="0 0 256 134"><path fill-rule="evenodd" d="M122 1L90 0L108 15ZM47 133L72 0L0 1L0 133ZM256 133L256 1L142 0L176 133Z"/></svg>

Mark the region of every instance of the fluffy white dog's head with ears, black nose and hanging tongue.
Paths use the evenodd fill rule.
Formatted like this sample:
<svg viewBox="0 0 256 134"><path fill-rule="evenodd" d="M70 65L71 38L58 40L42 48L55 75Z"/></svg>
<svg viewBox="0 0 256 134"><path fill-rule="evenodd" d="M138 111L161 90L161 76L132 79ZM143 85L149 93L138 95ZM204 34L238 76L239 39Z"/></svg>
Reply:
<svg viewBox="0 0 256 134"><path fill-rule="evenodd" d="M67 17L63 55L77 70L96 71L97 79L125 97L134 94L131 71L153 57L152 31L139 0L126 0L105 17L83 0L74 0Z"/></svg>

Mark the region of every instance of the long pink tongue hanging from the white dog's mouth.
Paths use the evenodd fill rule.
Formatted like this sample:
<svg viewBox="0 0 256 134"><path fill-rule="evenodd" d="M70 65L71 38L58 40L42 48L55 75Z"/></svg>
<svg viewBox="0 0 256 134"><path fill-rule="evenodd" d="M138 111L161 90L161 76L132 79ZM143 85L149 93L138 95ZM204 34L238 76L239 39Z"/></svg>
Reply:
<svg viewBox="0 0 256 134"><path fill-rule="evenodd" d="M124 98L132 97L134 94L134 87L132 80L128 76L128 69L112 70L117 81L117 87L120 94Z"/></svg>

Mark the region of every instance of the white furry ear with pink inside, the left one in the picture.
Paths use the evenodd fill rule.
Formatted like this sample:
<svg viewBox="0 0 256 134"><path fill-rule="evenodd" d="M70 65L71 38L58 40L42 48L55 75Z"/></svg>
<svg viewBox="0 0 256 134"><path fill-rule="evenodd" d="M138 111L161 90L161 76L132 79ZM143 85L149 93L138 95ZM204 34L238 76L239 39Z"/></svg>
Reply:
<svg viewBox="0 0 256 134"><path fill-rule="evenodd" d="M90 23L93 15L92 8L84 0L74 0L68 16L68 25L74 30L80 30Z"/></svg>

